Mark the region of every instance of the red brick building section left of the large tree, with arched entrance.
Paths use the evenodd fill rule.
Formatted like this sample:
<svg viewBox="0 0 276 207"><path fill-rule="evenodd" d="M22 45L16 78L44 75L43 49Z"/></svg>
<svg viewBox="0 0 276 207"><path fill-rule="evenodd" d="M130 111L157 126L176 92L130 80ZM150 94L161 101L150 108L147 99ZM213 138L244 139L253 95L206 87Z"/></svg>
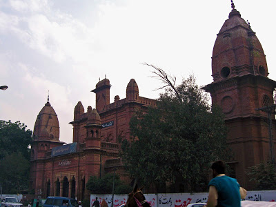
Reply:
<svg viewBox="0 0 276 207"><path fill-rule="evenodd" d="M128 122L136 108L155 106L155 100L139 96L135 79L126 88L126 98L115 96L110 103L110 81L103 79L92 90L96 94L96 109L88 106L85 112L81 101L74 110L73 142L59 141L59 120L48 102L34 124L31 149L30 186L37 196L57 195L77 197L86 192L89 177L101 177L107 172L130 178L122 169L119 158L119 137L130 137Z"/></svg>

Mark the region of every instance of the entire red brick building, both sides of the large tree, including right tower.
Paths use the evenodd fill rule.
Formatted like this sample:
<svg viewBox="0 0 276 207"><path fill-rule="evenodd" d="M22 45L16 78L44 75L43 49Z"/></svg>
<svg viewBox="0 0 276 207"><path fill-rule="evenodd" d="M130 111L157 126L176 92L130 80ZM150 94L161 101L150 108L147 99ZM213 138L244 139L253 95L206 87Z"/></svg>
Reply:
<svg viewBox="0 0 276 207"><path fill-rule="evenodd" d="M213 83L205 87L212 103L221 106L229 128L228 143L235 153L231 162L235 177L250 190L246 176L249 166L269 157L268 115L256 110L273 103L276 82L268 78L266 56L255 32L233 10L217 34L212 57ZM79 101L74 110L73 143L59 141L59 121L49 101L34 125L31 154L31 188L36 195L77 197L86 195L91 175L102 176L117 168L129 179L119 158L119 137L130 137L128 123L135 108L155 106L155 100L139 97L134 79L126 88L126 98L115 96L110 103L110 82L103 79L95 90L96 109L86 112ZM275 117L273 135L276 135ZM275 146L275 143L273 143ZM276 146L275 146L276 148Z"/></svg>

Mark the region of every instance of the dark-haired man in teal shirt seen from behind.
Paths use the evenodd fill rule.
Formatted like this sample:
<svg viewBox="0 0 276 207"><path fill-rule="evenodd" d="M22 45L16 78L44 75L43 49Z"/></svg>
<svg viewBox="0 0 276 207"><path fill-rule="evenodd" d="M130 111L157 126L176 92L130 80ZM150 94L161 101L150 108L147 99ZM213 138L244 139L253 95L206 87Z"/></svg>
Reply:
<svg viewBox="0 0 276 207"><path fill-rule="evenodd" d="M210 180L206 207L240 207L245 199L246 190L239 186L237 179L225 175L224 161L215 161L212 166L213 179Z"/></svg>

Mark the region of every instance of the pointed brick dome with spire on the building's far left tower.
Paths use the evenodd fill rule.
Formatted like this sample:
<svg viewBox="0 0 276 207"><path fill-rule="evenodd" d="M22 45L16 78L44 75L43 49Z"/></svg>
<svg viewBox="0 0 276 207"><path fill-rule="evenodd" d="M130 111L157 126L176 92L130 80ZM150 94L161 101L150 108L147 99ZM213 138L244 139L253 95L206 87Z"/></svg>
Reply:
<svg viewBox="0 0 276 207"><path fill-rule="evenodd" d="M45 137L45 128L49 133L50 139L59 141L59 119L54 108L49 103L49 99L39 112L39 115L37 115L37 120L34 124L34 139Z"/></svg>

